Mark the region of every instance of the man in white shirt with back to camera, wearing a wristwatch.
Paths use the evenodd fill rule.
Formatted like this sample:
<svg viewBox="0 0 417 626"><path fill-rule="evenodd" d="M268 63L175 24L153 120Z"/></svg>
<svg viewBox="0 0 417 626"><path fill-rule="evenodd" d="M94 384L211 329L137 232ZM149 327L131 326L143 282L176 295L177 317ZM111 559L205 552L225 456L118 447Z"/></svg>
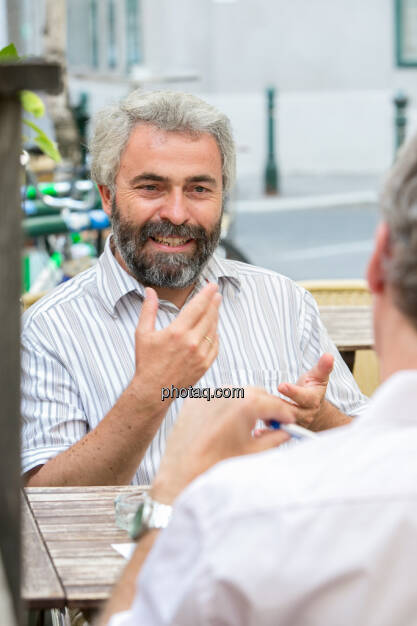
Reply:
<svg viewBox="0 0 417 626"><path fill-rule="evenodd" d="M361 419L279 452L284 433L251 437L259 417L292 417L264 390L188 400L100 625L416 624L417 136L381 207L368 283L383 384Z"/></svg>

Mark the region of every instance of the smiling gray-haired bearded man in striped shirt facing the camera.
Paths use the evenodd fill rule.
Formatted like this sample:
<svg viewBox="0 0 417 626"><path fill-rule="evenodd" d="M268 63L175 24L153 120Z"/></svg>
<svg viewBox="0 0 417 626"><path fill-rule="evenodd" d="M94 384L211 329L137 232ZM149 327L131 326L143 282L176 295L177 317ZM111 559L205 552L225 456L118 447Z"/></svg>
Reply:
<svg viewBox="0 0 417 626"><path fill-rule="evenodd" d="M235 175L225 115L136 91L98 116L91 156L113 236L94 268L24 317L29 485L149 483L181 405L162 401L171 386L279 388L315 430L360 413L310 294L213 256Z"/></svg>

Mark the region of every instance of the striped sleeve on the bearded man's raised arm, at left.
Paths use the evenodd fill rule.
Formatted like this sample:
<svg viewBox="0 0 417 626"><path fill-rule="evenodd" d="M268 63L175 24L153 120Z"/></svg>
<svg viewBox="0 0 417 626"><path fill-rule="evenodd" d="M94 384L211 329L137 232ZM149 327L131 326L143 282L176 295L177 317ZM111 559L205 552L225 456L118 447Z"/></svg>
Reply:
<svg viewBox="0 0 417 626"><path fill-rule="evenodd" d="M22 473L68 449L88 432L74 381L63 361L26 330L21 342Z"/></svg>

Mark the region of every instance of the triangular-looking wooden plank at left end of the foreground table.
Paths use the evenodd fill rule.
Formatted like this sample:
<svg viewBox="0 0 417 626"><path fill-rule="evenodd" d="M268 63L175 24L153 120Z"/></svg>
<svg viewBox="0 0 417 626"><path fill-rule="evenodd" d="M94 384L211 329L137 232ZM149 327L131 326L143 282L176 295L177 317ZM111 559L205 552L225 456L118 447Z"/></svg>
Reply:
<svg viewBox="0 0 417 626"><path fill-rule="evenodd" d="M65 593L32 511L22 498L22 599L29 608L62 608Z"/></svg>

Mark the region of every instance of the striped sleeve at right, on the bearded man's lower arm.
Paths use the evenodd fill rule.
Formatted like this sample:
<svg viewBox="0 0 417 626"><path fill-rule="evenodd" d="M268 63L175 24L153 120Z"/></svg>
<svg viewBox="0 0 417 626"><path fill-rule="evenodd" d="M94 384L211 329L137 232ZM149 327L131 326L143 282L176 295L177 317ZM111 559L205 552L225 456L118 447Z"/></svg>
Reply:
<svg viewBox="0 0 417 626"><path fill-rule="evenodd" d="M348 366L330 339L320 318L313 296L305 291L302 304L302 371L307 372L325 352L334 356L334 367L330 374L326 398L346 415L357 416L367 405L367 397L360 391Z"/></svg>

